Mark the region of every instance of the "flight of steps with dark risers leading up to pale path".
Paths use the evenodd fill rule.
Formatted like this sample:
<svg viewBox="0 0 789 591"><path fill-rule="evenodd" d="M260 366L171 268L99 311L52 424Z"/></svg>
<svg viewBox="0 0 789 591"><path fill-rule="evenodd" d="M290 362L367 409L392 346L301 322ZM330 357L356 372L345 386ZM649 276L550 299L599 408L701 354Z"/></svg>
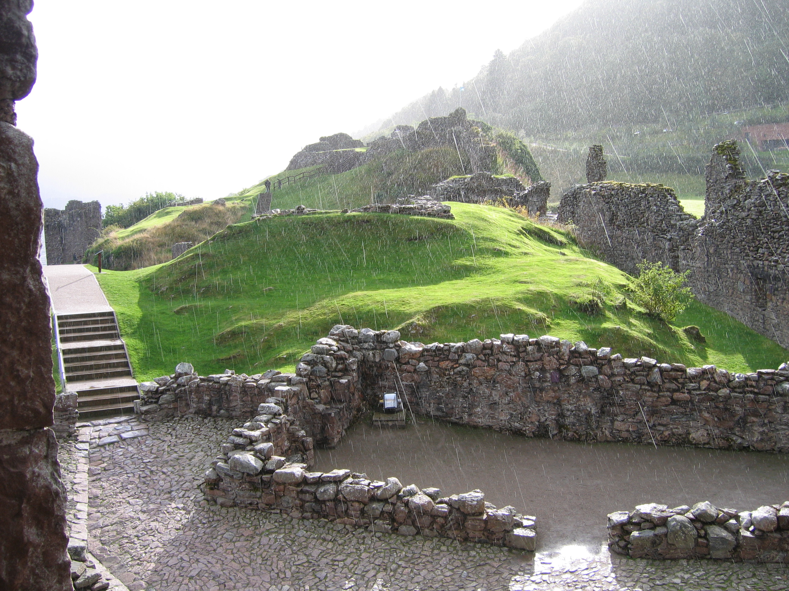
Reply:
<svg viewBox="0 0 789 591"><path fill-rule="evenodd" d="M53 328L63 390L77 392L80 418L133 412L140 392L114 311L55 314Z"/></svg>

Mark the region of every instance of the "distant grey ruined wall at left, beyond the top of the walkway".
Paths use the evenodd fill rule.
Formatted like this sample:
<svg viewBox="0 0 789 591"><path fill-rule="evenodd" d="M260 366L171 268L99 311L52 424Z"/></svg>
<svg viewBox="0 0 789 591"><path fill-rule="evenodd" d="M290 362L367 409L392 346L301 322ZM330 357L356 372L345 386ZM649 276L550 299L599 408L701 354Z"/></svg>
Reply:
<svg viewBox="0 0 789 591"><path fill-rule="evenodd" d="M44 241L47 265L82 262L88 247L101 234L101 204L69 201L65 210L44 210Z"/></svg>

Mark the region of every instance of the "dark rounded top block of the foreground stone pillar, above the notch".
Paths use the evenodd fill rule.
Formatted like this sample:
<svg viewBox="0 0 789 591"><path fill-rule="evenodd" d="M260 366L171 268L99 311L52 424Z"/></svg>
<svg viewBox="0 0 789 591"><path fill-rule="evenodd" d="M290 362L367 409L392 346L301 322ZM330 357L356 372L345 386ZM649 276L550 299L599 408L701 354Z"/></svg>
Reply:
<svg viewBox="0 0 789 591"><path fill-rule="evenodd" d="M27 19L32 0L0 0L0 121L17 125L13 103L36 82L36 38Z"/></svg>

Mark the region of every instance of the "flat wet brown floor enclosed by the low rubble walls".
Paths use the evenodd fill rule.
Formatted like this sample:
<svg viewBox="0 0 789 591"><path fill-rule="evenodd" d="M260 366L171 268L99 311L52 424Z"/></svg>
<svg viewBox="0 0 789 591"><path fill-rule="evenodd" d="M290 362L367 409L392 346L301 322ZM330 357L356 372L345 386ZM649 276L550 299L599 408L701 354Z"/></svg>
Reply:
<svg viewBox="0 0 789 591"><path fill-rule="evenodd" d="M316 470L335 467L445 495L481 489L497 507L537 515L541 552L563 562L599 555L612 511L701 500L744 511L789 500L787 454L583 444L427 418L406 429L353 426L337 448L316 450Z"/></svg>

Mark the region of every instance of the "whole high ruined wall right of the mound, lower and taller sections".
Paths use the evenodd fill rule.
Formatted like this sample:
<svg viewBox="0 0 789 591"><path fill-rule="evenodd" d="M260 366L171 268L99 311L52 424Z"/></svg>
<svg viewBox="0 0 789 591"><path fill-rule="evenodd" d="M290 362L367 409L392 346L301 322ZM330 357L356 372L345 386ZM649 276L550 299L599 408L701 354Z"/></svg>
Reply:
<svg viewBox="0 0 789 591"><path fill-rule="evenodd" d="M706 171L705 214L686 214L671 188L606 181L576 185L559 221L628 273L638 262L690 269L701 302L789 347L789 175L746 180L734 140L717 144Z"/></svg>

